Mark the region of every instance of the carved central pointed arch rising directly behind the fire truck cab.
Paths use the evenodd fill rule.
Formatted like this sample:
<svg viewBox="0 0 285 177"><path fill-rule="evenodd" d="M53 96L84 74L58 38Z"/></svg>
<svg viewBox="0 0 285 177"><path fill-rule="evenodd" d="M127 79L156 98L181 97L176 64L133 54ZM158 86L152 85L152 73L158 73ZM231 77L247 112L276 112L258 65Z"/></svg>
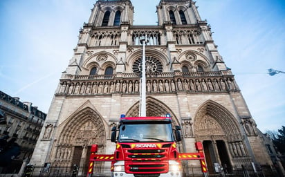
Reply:
<svg viewBox="0 0 285 177"><path fill-rule="evenodd" d="M174 121L174 124L180 125L180 122L178 121L178 118L174 114L174 112L169 109L169 107L161 102L160 100L157 100L154 97L147 97L147 116L154 116L154 117L165 117L167 113L170 113L172 116L172 120ZM129 111L127 111L126 116L127 117L138 117L139 115L139 104L140 102L136 102Z"/></svg>

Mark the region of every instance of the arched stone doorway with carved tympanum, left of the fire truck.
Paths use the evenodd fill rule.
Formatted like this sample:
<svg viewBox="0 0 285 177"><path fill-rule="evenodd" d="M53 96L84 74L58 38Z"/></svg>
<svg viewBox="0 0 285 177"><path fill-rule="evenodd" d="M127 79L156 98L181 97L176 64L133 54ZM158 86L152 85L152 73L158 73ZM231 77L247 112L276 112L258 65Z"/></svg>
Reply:
<svg viewBox="0 0 285 177"><path fill-rule="evenodd" d="M97 144L98 153L104 153L106 131L102 118L93 109L86 107L74 113L73 117L68 118L59 127L62 127L62 131L55 147L53 166L72 171L73 165L77 165L78 176L86 176L91 145ZM101 170L101 166L102 164L98 164L95 171Z"/></svg>

